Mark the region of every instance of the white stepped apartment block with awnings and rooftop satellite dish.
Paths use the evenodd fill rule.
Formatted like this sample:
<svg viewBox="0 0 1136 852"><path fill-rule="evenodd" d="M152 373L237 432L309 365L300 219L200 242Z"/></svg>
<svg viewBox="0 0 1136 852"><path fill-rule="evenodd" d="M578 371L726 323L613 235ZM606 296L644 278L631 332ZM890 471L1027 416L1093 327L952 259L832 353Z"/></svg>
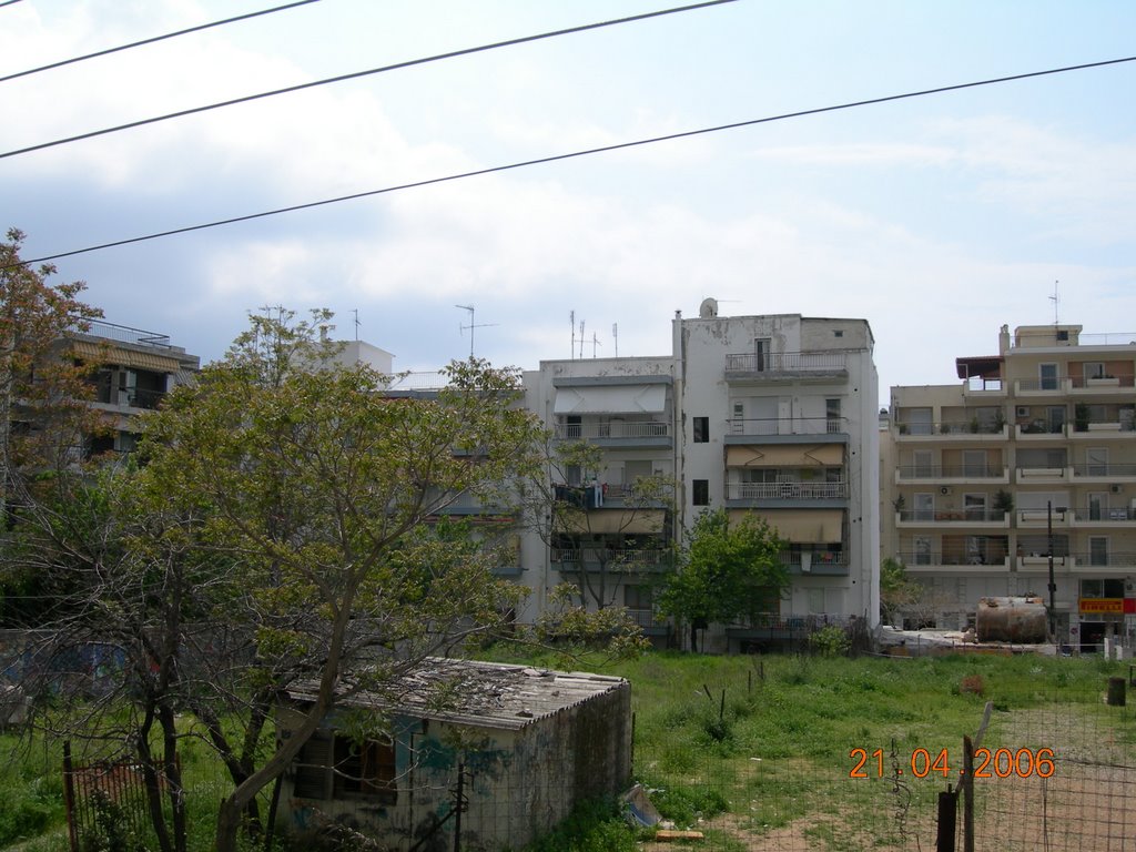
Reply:
<svg viewBox="0 0 1136 852"><path fill-rule="evenodd" d="M872 348L862 319L719 317L708 299L698 318L676 315L669 357L542 361L525 376L526 404L557 441L588 442L602 461L554 468L553 486L582 501L585 519L553 541L527 538L523 562L538 568L537 591L580 571L608 575L604 603L662 633L651 588L670 567L667 550L699 512L724 507L776 527L792 584L779 612L727 626L711 646L784 640L810 617L875 625ZM673 484L669 500L635 500L649 477Z"/></svg>

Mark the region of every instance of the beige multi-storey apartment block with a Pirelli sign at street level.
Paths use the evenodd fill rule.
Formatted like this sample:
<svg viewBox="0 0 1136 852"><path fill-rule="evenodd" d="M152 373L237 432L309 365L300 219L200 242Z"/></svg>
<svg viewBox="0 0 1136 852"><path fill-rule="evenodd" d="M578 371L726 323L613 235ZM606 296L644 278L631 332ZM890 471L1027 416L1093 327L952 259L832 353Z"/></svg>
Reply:
<svg viewBox="0 0 1136 852"><path fill-rule="evenodd" d="M882 552L927 587L910 618L964 627L982 596L1037 594L1062 643L1136 629L1133 337L1003 326L959 384L892 389Z"/></svg>

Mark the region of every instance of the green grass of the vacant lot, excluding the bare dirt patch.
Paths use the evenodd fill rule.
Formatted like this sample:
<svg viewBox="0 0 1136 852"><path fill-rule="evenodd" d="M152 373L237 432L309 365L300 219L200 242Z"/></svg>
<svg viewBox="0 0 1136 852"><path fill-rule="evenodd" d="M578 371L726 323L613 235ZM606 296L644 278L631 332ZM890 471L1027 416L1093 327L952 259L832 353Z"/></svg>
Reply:
<svg viewBox="0 0 1136 852"><path fill-rule="evenodd" d="M563 665L551 658L525 661ZM800 830L810 849L834 851L902 840L946 783L958 782L962 736L976 733L987 701L995 712L984 745L997 746L1010 730L1001 720L1029 710L1108 728L1124 747L1136 744L1130 710L1101 702L1106 678L1127 675L1127 667L1099 659L650 653L610 665L585 658L571 666L630 680L635 780L679 827L704 829L703 847L716 852L744 849L738 835L778 830ZM1060 757L1062 744L1046 741L1052 730L1028 736L1025 744L1054 747ZM192 740L184 744L186 786L195 791L189 801L195 852L211 844L209 827L227 780L207 750L193 749ZM850 777L854 749L864 751L867 778ZM911 755L920 749L932 760L946 750L950 772L914 778ZM58 745L30 747L3 735L0 750L15 755L0 768L0 849L65 849ZM902 778L894 775L897 768ZM893 790L896 780L902 796ZM600 852L632 850L633 843L610 811L591 809L537 850Z"/></svg>

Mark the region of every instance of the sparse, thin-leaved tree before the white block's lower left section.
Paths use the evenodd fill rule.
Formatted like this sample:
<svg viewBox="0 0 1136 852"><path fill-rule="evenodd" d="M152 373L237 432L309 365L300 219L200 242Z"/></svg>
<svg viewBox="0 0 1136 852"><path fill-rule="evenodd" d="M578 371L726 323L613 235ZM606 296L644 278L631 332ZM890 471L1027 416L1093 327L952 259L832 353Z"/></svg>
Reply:
<svg viewBox="0 0 1136 852"><path fill-rule="evenodd" d="M658 475L640 477L616 503L603 483L602 448L569 441L558 444L549 457L552 492L535 490L538 507L534 515L548 519L542 537L557 551L561 571L575 575L580 609L612 607L618 603L621 579L671 561L673 483ZM569 486L570 481L584 484Z"/></svg>

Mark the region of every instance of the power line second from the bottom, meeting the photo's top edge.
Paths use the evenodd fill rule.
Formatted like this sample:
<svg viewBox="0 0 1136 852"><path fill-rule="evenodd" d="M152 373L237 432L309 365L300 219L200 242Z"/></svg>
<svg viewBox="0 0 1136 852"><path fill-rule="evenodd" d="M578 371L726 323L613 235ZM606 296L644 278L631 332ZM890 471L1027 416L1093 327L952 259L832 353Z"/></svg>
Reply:
<svg viewBox="0 0 1136 852"><path fill-rule="evenodd" d="M335 77L326 77L324 80L316 80L310 83L300 83L294 86L286 86L284 89L274 89L269 92L260 92L259 94L247 94L242 98L233 98L227 101L218 101L216 103L207 103L202 107L192 107L190 109L182 109L177 112L168 112L161 116L154 116L152 118L143 118L137 122L130 122L127 124L119 124L114 127L105 127L100 131L91 131L89 133L81 133L75 136L67 136L65 139L57 139L51 142L41 142L36 145L28 145L27 148L18 148L14 151L6 151L0 153L0 159L6 157L15 157L22 153L31 153L32 151L41 151L44 148L55 148L56 145L64 145L70 142L80 142L84 139L93 139L95 136L106 136L110 133L118 133L120 131L128 131L135 127L144 127L149 124L157 124L159 122L168 122L172 118L184 118L185 116L192 116L198 112L208 112L212 109L222 109L224 107L232 107L237 103L248 103L249 101L261 100L264 98L275 98L278 94L290 94L292 92L302 92L306 89L315 89L316 86L328 85L331 83L342 83L348 80L358 80L359 77L367 77L373 74L383 74L385 72L399 70L401 68L411 68L416 65L425 65L426 62L436 62L442 59L454 59L460 56L469 56L470 53L481 53L487 50L496 50L499 48L510 48L516 44L526 44L528 42L540 41L542 39L553 39L559 35L570 35L573 33L583 33L588 30L599 30L607 26L616 26L618 24L630 24L637 20L646 20L648 18L657 18L663 15L675 15L682 11L693 11L695 9L704 9L710 6L721 6L722 3L733 3L737 0L707 0L705 2L694 3L693 6L679 6L673 9L662 9L660 11L649 11L643 15L632 15L626 18L616 18L613 20L603 20L596 24L584 24L583 26L573 26L567 30L554 30L549 33L540 33L537 35L525 35L519 39L509 39L507 41L493 42L492 44L482 44L476 48L463 48L461 50L453 50L448 53L438 53L436 56L425 57L421 59L410 59L404 62L395 62L394 65L385 65L381 68L368 68L367 70L352 72L351 74L341 74Z"/></svg>

